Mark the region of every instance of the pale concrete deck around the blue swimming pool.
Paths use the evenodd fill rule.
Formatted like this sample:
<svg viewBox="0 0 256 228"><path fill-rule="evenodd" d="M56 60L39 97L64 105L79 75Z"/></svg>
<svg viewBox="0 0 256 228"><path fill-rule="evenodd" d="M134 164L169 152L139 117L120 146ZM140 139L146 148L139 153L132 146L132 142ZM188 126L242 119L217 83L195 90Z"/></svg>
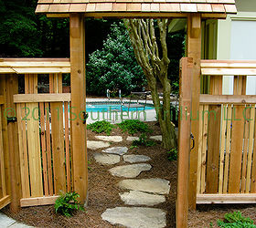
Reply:
<svg viewBox="0 0 256 228"><path fill-rule="evenodd" d="M102 101L113 101L118 102L120 99L111 98L86 98L86 102L102 102ZM130 99L123 98L123 102L129 102ZM140 102L144 102L144 100L139 100ZM153 104L152 100L146 100L147 104ZM92 123L98 120L107 120L112 123L122 122L124 119L140 119L142 121L155 121L156 113L155 109L149 109L144 111L123 111L123 112L89 112L89 117L87 119L87 123Z"/></svg>

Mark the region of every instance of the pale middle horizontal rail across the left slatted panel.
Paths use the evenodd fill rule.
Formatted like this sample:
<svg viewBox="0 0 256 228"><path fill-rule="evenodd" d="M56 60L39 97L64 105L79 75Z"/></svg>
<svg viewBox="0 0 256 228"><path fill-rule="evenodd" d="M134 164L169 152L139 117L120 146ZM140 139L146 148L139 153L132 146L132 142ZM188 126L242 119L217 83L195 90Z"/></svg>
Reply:
<svg viewBox="0 0 256 228"><path fill-rule="evenodd" d="M70 93L16 94L15 103L70 101Z"/></svg>

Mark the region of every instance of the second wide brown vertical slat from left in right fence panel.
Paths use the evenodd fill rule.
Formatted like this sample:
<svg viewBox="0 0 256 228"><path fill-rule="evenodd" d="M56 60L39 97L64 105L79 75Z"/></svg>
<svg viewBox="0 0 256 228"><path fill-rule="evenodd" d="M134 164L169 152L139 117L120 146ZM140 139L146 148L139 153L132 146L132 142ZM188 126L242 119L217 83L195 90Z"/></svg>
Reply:
<svg viewBox="0 0 256 228"><path fill-rule="evenodd" d="M242 78L234 78L234 95L241 95ZM243 144L243 109L244 106L233 106L232 137L229 165L229 193L240 192L241 160Z"/></svg>

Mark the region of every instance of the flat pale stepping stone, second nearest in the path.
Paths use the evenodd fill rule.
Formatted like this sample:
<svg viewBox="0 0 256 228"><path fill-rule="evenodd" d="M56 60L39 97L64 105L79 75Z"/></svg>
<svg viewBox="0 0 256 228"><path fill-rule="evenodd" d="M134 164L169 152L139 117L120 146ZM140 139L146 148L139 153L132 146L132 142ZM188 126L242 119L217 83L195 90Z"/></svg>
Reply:
<svg viewBox="0 0 256 228"><path fill-rule="evenodd" d="M149 194L140 191L130 191L119 193L121 200L128 205L147 205L154 206L161 202L165 202L164 195Z"/></svg>

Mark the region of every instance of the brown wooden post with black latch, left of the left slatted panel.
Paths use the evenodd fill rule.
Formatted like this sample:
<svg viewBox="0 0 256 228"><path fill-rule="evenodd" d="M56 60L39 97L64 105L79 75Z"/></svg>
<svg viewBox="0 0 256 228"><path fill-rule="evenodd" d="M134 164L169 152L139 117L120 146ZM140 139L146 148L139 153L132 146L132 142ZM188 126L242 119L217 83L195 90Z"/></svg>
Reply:
<svg viewBox="0 0 256 228"><path fill-rule="evenodd" d="M18 81L17 75L7 75L5 76L5 87L6 87L6 108L5 108L5 118L15 117L16 106L14 104L13 95L18 93ZM9 115L7 110L10 110ZM20 207L21 199L21 173L20 173L20 160L19 160L19 149L18 149L18 130L16 122L9 122L7 124L8 132L8 150L9 150L9 164L10 164L10 174L11 174L11 197L12 202L10 204L10 209L13 212L17 212Z"/></svg>

